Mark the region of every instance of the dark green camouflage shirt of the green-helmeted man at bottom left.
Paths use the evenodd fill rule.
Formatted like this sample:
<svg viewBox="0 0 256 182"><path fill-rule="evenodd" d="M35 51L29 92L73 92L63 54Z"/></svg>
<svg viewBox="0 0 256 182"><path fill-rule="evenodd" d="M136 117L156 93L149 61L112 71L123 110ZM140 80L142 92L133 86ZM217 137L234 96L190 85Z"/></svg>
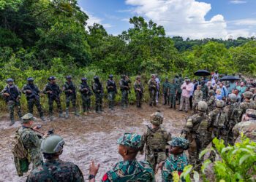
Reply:
<svg viewBox="0 0 256 182"><path fill-rule="evenodd" d="M31 171L26 182L45 181L74 181L83 182L83 173L72 162L63 162L60 159L46 160L43 165Z"/></svg>

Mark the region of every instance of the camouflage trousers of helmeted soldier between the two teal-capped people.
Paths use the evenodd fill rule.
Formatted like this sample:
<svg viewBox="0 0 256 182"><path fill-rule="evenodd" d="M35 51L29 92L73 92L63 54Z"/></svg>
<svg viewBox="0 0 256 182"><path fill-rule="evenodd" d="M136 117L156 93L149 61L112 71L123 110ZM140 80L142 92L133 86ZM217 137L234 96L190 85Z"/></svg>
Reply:
<svg viewBox="0 0 256 182"><path fill-rule="evenodd" d="M157 164L166 159L165 151L154 152L154 151L146 151L146 161L149 162L153 168L156 170Z"/></svg>

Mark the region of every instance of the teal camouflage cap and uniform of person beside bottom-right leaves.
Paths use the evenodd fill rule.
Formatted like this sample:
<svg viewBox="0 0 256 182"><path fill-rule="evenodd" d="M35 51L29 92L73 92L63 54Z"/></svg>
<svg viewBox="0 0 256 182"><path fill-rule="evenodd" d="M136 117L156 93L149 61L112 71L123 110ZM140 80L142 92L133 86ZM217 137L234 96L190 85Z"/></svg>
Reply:
<svg viewBox="0 0 256 182"><path fill-rule="evenodd" d="M175 137L168 143L170 146L179 146L182 149L187 149L189 146L189 141L181 137ZM184 152L178 155L170 154L170 156L165 160L165 165L162 167L162 182L172 182L173 173L178 173L178 175L181 175L184 167L187 165L188 159ZM181 179L181 181L184 181L184 179Z"/></svg>

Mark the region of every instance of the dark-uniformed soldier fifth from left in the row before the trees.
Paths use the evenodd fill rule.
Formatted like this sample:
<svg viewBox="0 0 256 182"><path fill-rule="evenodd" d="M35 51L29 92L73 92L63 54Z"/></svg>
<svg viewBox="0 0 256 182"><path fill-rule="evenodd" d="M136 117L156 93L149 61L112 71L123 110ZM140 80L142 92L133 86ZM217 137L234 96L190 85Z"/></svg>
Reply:
<svg viewBox="0 0 256 182"><path fill-rule="evenodd" d="M83 77L81 79L81 84L79 86L79 91L81 93L82 104L83 104L83 114L87 115L91 107L91 89L87 84L87 78Z"/></svg>

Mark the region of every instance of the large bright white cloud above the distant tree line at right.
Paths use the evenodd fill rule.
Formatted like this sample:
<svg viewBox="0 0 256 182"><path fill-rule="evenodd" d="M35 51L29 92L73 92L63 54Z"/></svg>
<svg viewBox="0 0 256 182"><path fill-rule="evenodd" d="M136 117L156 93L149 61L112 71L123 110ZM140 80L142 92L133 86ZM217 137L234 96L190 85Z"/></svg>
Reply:
<svg viewBox="0 0 256 182"><path fill-rule="evenodd" d="M135 7L133 13L151 19L165 27L169 36L183 36L185 39L221 38L227 36L250 36L249 30L227 30L227 22L222 15L214 15L206 20L211 4L196 0L126 0ZM236 22L242 23L242 22ZM244 21L253 23L253 21ZM235 25L235 24L234 24Z"/></svg>

